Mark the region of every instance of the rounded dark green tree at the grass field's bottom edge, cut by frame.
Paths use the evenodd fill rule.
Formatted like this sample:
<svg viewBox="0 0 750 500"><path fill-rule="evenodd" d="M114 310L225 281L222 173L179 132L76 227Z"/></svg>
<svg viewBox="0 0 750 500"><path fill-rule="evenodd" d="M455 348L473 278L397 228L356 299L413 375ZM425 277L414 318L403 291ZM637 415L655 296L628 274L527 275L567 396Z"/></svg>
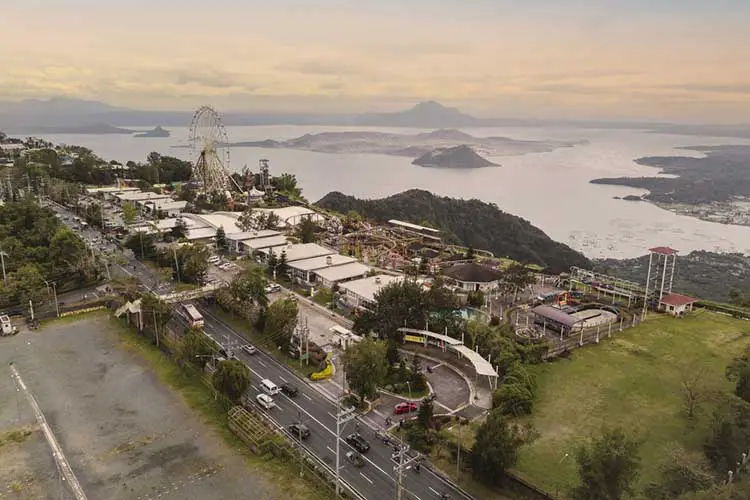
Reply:
<svg viewBox="0 0 750 500"><path fill-rule="evenodd" d="M621 428L604 428L601 436L576 452L581 484L573 489L574 500L620 500L633 494L638 479L640 443Z"/></svg>

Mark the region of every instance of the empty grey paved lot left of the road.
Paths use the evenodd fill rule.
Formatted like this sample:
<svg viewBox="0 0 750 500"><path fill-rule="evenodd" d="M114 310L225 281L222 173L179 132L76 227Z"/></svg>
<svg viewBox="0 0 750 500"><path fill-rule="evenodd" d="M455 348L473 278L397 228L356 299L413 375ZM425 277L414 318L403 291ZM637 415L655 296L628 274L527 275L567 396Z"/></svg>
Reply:
<svg viewBox="0 0 750 500"><path fill-rule="evenodd" d="M73 498L34 414L36 397L89 499L279 498L121 345L103 316L0 338L0 499Z"/></svg>

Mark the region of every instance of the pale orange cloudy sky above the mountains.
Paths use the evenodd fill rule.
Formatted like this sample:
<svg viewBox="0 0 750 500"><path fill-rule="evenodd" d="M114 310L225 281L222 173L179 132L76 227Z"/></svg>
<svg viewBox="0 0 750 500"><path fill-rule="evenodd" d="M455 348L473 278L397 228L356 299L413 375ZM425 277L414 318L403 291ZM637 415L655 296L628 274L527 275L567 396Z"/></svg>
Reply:
<svg viewBox="0 0 750 500"><path fill-rule="evenodd" d="M0 100L750 122L747 0L4 0Z"/></svg>

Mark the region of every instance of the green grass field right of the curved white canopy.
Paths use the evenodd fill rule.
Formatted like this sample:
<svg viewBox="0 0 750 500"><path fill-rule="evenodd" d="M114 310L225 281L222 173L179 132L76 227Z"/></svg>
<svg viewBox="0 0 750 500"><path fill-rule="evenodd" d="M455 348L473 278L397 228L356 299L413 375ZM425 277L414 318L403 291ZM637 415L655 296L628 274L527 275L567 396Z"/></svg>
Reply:
<svg viewBox="0 0 750 500"><path fill-rule="evenodd" d="M731 391L724 369L749 344L750 323L699 310L682 319L653 317L569 359L534 366L539 388L530 418L540 437L523 449L517 472L563 496L578 480L576 448L606 423L642 441L640 485L647 484L669 443L702 449L715 405L710 393ZM696 371L709 396L691 423L681 383Z"/></svg>

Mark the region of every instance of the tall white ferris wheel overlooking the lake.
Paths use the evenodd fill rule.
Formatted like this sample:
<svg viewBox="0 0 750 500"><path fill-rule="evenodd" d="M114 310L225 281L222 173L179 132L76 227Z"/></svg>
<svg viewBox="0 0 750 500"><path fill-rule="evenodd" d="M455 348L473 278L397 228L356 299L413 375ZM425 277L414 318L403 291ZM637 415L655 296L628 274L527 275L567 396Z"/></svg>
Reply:
<svg viewBox="0 0 750 500"><path fill-rule="evenodd" d="M219 113L201 106L190 124L190 152L193 181L200 191L225 193L229 189L229 140Z"/></svg>

